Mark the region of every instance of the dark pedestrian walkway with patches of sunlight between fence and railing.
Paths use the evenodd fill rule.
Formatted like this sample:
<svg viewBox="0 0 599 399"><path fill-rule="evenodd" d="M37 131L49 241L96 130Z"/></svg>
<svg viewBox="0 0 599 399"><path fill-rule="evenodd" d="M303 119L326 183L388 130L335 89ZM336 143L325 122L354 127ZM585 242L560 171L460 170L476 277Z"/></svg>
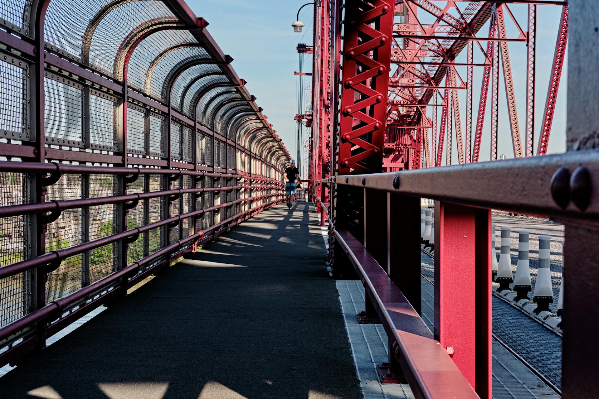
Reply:
<svg viewBox="0 0 599 399"><path fill-rule="evenodd" d="M0 379L0 397L361 398L307 203L189 255Z"/></svg>

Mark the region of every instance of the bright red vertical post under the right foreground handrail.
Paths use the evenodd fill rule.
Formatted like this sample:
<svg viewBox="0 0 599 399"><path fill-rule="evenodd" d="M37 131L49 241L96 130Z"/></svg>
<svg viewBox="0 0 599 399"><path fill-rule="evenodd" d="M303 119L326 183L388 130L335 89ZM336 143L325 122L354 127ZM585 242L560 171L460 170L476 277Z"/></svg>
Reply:
<svg viewBox="0 0 599 399"><path fill-rule="evenodd" d="M491 398L490 226L489 209L435 202L434 334L481 398Z"/></svg>

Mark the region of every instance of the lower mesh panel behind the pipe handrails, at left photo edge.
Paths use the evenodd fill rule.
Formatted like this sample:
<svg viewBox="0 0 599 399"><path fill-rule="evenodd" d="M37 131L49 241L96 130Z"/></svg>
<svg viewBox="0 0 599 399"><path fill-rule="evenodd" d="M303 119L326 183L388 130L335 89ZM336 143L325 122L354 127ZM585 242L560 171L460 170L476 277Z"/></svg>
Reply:
<svg viewBox="0 0 599 399"><path fill-rule="evenodd" d="M18 205L26 198L22 173L0 173L0 205ZM26 253L23 216L0 219L0 267L23 260ZM25 315L28 309L27 273L0 279L0 327Z"/></svg>

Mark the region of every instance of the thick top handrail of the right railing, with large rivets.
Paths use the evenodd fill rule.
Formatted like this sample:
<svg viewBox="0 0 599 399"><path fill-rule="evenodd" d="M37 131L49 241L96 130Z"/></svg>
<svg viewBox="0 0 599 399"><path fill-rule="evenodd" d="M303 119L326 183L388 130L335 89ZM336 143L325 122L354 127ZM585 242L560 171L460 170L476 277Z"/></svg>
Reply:
<svg viewBox="0 0 599 399"><path fill-rule="evenodd" d="M320 182L501 211L599 220L599 191L594 188L599 187L597 151L401 172L339 175ZM562 197L567 200L564 208L556 202ZM583 204L588 206L585 208Z"/></svg>

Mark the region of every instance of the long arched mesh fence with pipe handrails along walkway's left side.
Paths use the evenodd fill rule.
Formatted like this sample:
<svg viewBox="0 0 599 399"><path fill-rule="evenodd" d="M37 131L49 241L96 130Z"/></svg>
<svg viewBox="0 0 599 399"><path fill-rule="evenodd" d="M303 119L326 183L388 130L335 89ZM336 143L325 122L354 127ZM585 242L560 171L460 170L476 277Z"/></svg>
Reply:
<svg viewBox="0 0 599 399"><path fill-rule="evenodd" d="M182 0L0 8L0 364L283 200L289 153Z"/></svg>

